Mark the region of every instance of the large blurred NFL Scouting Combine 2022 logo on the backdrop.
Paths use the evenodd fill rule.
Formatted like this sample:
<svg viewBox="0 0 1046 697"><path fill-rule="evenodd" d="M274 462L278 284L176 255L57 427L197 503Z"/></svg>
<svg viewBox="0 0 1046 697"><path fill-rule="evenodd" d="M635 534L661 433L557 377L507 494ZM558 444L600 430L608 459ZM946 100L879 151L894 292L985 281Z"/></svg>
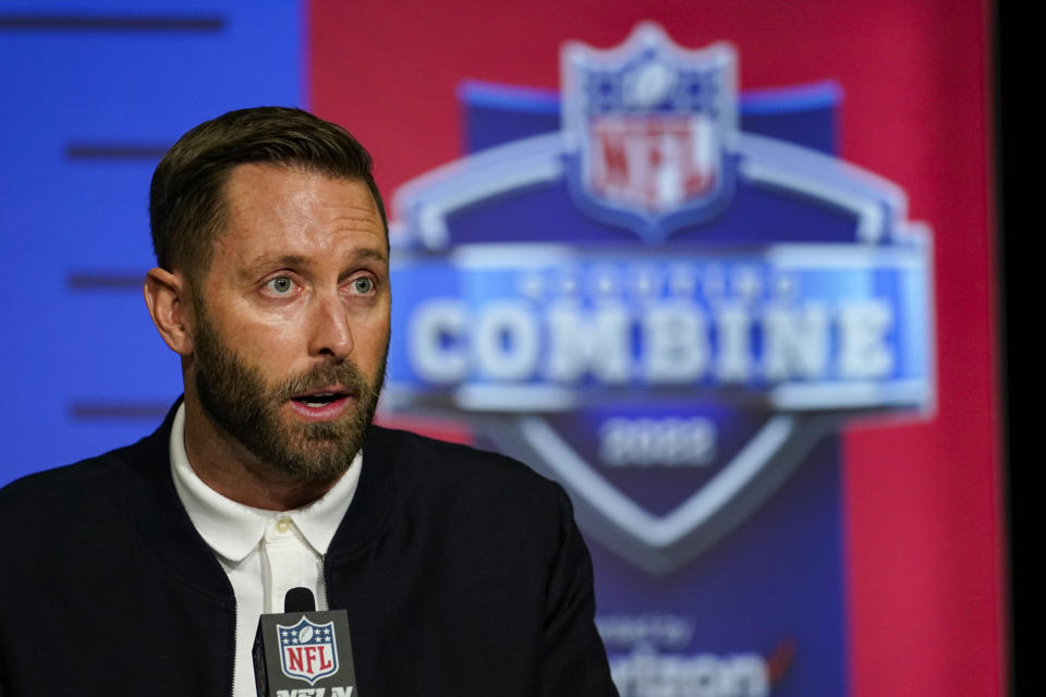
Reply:
<svg viewBox="0 0 1046 697"><path fill-rule="evenodd" d="M745 103L728 45L643 24L560 64L560 130L520 126L547 97L492 89L485 147L397 193L384 399L466 414L668 574L849 418L932 407L928 231L832 156L823 90Z"/></svg>

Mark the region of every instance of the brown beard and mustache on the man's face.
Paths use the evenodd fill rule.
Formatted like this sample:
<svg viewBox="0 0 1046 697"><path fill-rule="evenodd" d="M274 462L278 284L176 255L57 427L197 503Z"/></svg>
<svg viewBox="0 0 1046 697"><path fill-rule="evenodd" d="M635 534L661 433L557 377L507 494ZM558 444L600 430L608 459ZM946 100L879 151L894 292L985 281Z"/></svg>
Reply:
<svg viewBox="0 0 1046 697"><path fill-rule="evenodd" d="M269 389L262 371L227 345L196 309L194 337L196 392L207 415L255 457L301 482L332 481L352 464L363 448L385 380L388 343L378 374L368 380L352 363L320 364L288 376ZM294 395L345 388L354 404L336 421L291 423L280 409Z"/></svg>

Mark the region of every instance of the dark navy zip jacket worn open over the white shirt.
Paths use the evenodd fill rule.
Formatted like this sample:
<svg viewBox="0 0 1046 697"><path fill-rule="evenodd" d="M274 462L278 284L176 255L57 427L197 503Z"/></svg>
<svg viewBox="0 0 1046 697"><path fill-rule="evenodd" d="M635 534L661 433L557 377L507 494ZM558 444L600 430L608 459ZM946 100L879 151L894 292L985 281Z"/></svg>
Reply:
<svg viewBox="0 0 1046 697"><path fill-rule="evenodd" d="M235 598L171 419L0 490L0 696L231 694ZM616 695L570 501L508 457L373 427L325 576L362 697Z"/></svg>

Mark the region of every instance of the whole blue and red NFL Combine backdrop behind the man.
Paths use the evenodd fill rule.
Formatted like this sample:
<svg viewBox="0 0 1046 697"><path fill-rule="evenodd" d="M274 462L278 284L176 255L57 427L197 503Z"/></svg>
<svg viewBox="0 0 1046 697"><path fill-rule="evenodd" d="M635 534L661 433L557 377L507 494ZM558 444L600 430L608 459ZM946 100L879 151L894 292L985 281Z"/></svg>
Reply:
<svg viewBox="0 0 1046 697"><path fill-rule="evenodd" d="M568 487L622 693L998 694L986 36L975 2L0 2L0 482L159 421L151 169L301 105L394 211L381 419Z"/></svg>

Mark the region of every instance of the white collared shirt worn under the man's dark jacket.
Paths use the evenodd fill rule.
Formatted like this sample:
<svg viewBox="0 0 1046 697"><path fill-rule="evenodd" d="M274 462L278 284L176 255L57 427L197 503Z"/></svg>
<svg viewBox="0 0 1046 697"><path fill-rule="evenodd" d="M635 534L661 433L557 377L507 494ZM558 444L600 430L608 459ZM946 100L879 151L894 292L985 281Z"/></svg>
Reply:
<svg viewBox="0 0 1046 697"><path fill-rule="evenodd" d="M171 427L171 476L174 489L221 563L236 596L234 697L255 697L251 648L263 612L283 612L283 597L304 587L327 609L324 555L360 481L363 452L321 498L293 511L253 509L221 496L200 479L185 454L185 405Z"/></svg>

